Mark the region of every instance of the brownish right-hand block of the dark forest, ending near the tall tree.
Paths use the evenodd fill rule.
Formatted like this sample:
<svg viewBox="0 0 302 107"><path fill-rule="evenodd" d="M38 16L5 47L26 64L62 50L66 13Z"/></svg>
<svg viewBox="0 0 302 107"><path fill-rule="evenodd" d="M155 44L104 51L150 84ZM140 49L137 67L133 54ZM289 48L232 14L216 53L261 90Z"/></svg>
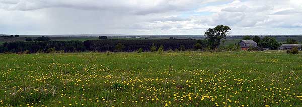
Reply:
<svg viewBox="0 0 302 107"><path fill-rule="evenodd" d="M133 52L142 48L143 51L150 51L153 45L164 50L179 49L183 45L186 49L192 49L197 40L90 40L85 41L85 49L98 52Z"/></svg>

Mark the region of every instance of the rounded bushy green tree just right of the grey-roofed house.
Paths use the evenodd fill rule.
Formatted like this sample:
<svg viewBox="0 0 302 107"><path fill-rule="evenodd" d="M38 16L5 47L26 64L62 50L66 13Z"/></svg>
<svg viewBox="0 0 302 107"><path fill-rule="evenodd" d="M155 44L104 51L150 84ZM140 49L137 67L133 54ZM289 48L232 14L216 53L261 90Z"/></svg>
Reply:
<svg viewBox="0 0 302 107"><path fill-rule="evenodd" d="M279 43L273 37L264 37L259 43L262 48L269 48L271 50L275 50L279 48Z"/></svg>

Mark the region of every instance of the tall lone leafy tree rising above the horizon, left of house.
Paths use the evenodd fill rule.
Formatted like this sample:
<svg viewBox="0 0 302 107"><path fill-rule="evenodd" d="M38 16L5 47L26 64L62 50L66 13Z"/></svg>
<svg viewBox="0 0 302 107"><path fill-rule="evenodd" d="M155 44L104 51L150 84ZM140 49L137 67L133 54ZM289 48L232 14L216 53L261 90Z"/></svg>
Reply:
<svg viewBox="0 0 302 107"><path fill-rule="evenodd" d="M210 28L204 32L208 45L211 49L218 48L222 39L225 39L226 35L229 35L230 27L224 25L218 25L215 28Z"/></svg>

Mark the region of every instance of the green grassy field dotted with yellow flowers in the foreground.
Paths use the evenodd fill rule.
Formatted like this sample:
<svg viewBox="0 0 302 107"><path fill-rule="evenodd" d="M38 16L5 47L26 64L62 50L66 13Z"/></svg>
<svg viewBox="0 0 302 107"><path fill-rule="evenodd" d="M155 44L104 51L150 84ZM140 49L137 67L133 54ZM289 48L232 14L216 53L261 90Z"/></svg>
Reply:
<svg viewBox="0 0 302 107"><path fill-rule="evenodd" d="M0 54L0 106L301 106L301 56Z"/></svg>

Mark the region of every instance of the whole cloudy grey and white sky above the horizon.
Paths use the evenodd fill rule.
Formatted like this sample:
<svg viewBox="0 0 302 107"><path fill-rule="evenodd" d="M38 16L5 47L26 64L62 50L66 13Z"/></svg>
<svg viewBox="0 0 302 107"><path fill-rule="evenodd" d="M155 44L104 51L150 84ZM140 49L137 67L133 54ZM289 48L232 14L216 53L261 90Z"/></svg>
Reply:
<svg viewBox="0 0 302 107"><path fill-rule="evenodd" d="M302 34L301 0L0 0L0 34Z"/></svg>

